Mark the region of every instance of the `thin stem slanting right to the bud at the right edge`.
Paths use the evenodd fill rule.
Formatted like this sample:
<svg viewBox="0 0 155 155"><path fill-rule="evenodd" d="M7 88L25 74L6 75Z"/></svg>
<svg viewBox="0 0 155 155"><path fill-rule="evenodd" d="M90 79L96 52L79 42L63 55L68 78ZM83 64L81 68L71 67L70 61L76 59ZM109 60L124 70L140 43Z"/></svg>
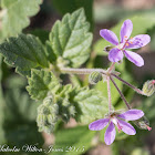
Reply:
<svg viewBox="0 0 155 155"><path fill-rule="evenodd" d="M112 76L116 78L117 80L120 80L121 82L123 82L124 84L126 84L127 86L132 87L135 92L137 92L138 94L145 95L143 93L143 91L141 91L140 89L137 89L136 86L132 85L131 83L124 81L123 79L121 79L120 76L115 75L114 73L111 73Z"/></svg>

